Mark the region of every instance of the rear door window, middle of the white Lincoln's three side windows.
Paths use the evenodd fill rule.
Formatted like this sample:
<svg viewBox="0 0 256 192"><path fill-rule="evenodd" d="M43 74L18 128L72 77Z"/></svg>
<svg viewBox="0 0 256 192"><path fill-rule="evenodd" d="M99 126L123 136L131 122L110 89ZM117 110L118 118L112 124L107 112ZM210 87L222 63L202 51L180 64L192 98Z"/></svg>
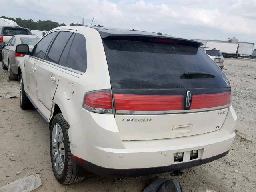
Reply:
<svg viewBox="0 0 256 192"><path fill-rule="evenodd" d="M68 31L61 31L55 38L54 42L52 43L52 46L46 56L46 60L50 62L54 62L58 64L60 55L68 42L69 38L71 37L72 32Z"/></svg>

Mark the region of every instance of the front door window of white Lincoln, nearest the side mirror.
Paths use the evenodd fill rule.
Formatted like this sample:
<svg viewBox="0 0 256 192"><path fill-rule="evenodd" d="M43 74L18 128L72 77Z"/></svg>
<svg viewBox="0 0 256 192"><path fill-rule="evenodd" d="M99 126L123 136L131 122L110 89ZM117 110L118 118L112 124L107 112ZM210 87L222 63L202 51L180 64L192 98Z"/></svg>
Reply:
<svg viewBox="0 0 256 192"><path fill-rule="evenodd" d="M38 44L36 44L36 48L33 52L33 56L43 59L45 56L45 53L50 45L50 43L52 42L52 39L54 38L56 32L52 32L50 34L48 34L47 36L45 36L44 38L42 38L42 40L40 42L38 42Z"/></svg>

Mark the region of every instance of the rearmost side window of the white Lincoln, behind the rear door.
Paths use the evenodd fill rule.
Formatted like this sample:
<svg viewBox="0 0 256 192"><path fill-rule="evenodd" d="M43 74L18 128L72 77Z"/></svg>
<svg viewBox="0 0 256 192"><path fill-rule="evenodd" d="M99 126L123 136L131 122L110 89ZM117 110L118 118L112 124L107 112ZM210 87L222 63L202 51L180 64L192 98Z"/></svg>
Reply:
<svg viewBox="0 0 256 192"><path fill-rule="evenodd" d="M66 66L81 72L86 71L86 40L82 34L74 37Z"/></svg>

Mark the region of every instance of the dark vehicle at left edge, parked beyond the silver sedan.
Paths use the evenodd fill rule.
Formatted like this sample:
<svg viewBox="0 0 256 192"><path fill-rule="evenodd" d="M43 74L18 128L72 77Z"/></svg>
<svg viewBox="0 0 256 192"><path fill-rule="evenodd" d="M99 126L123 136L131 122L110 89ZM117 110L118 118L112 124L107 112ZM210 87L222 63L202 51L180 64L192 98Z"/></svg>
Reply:
<svg viewBox="0 0 256 192"><path fill-rule="evenodd" d="M0 43L7 44L14 35L32 35L28 28L16 27L16 26L0 26ZM0 61L2 61L2 49L0 46Z"/></svg>

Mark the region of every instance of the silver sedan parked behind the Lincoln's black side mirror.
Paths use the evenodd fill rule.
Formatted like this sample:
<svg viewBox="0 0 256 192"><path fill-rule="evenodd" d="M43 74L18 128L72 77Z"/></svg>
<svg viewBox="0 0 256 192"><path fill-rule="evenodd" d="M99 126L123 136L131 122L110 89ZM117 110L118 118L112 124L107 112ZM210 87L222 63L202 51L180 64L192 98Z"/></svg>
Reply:
<svg viewBox="0 0 256 192"><path fill-rule="evenodd" d="M2 50L3 69L8 69L9 80L18 80L18 64L25 56L15 52L16 45L27 44L30 51L41 37L34 35L14 35Z"/></svg>

